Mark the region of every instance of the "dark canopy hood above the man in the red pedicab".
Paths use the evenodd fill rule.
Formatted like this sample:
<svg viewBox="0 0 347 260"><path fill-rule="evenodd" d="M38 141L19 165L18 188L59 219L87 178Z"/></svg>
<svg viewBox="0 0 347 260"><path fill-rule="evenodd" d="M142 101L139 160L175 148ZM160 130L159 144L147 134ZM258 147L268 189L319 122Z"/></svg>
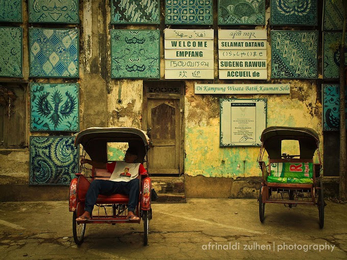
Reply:
<svg viewBox="0 0 347 260"><path fill-rule="evenodd" d="M143 131L134 127L90 127L77 134L75 146L81 144L91 160L106 163L107 143L125 142L137 151L136 162L143 163L148 140Z"/></svg>

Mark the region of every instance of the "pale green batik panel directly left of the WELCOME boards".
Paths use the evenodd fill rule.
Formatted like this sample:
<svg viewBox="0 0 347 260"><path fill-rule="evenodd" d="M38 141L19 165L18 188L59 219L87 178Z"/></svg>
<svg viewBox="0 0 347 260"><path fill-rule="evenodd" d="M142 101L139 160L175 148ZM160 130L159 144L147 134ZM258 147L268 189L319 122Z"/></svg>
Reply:
<svg viewBox="0 0 347 260"><path fill-rule="evenodd" d="M159 79L159 30L111 30L112 78Z"/></svg>

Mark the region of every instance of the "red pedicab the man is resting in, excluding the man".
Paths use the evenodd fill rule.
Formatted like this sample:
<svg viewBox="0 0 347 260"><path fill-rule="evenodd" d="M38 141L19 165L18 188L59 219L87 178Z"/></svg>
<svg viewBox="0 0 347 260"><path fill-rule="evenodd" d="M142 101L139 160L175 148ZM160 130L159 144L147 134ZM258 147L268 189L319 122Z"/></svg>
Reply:
<svg viewBox="0 0 347 260"><path fill-rule="evenodd" d="M91 127L77 134L75 146L83 146L82 157L85 152L90 159L96 162L108 162L108 143L128 143L129 147L137 150L137 163L147 162L148 139L140 129L133 127ZM84 165L81 163L81 169ZM80 170L81 171L81 170ZM152 181L148 175L140 175L139 202L135 210L138 220L127 219L127 204L129 196L113 194L111 196L99 195L96 205L89 220L76 221L81 216L85 207L85 196L91 181L95 179L108 179L111 173L104 169L92 167L91 176L77 173L70 183L69 211L73 212L72 232L73 240L80 245L84 240L86 225L88 224L118 224L118 223L140 223L143 221L143 244L148 243L148 226L152 219L151 190Z"/></svg>

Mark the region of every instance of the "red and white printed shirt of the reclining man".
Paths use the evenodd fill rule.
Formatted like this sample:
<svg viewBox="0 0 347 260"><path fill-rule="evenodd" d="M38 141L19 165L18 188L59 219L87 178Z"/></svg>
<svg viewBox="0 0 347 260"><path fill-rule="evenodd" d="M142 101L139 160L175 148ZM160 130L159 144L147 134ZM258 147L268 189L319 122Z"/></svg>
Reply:
<svg viewBox="0 0 347 260"><path fill-rule="evenodd" d="M111 172L109 180L112 181L130 181L137 178L139 174L145 174L147 171L140 163L113 162L107 164L107 171Z"/></svg>

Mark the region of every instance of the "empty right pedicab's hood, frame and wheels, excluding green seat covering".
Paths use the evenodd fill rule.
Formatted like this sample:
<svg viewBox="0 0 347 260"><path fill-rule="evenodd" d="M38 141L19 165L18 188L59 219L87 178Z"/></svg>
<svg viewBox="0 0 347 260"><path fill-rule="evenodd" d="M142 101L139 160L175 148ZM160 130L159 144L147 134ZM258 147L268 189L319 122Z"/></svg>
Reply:
<svg viewBox="0 0 347 260"><path fill-rule="evenodd" d="M265 203L283 203L290 208L298 204L317 205L319 227L323 228L324 207L326 204L323 194L323 176L320 175L321 160L317 133L308 127L270 126L264 129L260 140L262 145L257 160L262 171L258 198L260 221L264 221ZM300 154L281 154L283 140L299 141ZM265 150L268 154L268 168L263 161ZM317 152L319 163L313 162L315 152ZM267 182L267 176L269 176L271 163L312 163L313 183L269 183Z"/></svg>

